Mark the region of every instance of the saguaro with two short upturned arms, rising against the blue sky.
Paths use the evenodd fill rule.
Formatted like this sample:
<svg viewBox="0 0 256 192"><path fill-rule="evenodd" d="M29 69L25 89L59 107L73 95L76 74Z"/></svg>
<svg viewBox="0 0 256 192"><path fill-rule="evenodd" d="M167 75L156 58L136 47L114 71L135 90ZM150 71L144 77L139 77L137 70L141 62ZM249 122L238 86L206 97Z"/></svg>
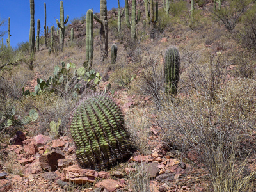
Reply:
<svg viewBox="0 0 256 192"><path fill-rule="evenodd" d="M67 24L68 18L69 18L69 16L67 15L67 17L64 21L63 1L60 1L60 22L58 19L56 19L56 23L57 23L58 27L60 28L59 41L60 41L60 50L61 51L63 51L63 48L64 48L65 24Z"/></svg>

